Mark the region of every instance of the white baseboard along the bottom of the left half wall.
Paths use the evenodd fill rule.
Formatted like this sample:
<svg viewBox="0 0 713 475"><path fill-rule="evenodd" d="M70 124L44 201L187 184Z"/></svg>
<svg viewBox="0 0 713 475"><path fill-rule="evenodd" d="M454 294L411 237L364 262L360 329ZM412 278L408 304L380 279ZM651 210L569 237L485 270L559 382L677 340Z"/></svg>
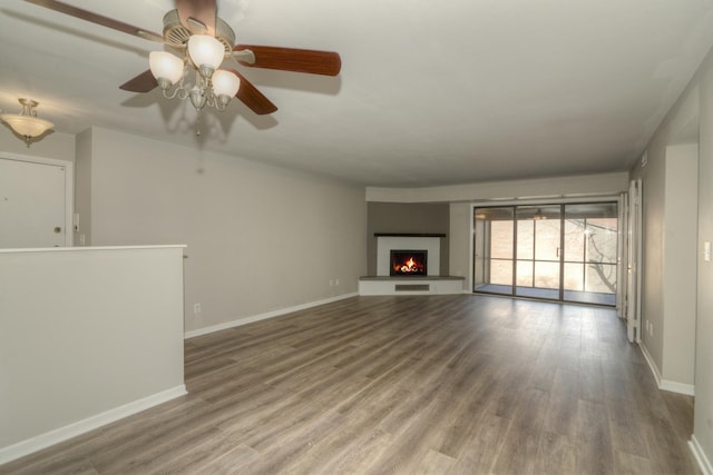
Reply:
<svg viewBox="0 0 713 475"><path fill-rule="evenodd" d="M59 427L45 434L40 434L17 444L1 447L0 465L7 464L8 462L23 457L33 452L41 451L42 448L47 448L50 445L59 444L60 442L67 441L71 437L76 437L89 431L94 431L98 427L121 419L124 417L128 417L133 414L140 413L141 410L146 410L149 407L157 406L167 400L180 397L185 394L187 394L186 386L182 384L174 388L153 394L148 397L134 400L119 407L115 407L114 409L109 409L101 414L87 417L86 419L77 420L76 423Z"/></svg>

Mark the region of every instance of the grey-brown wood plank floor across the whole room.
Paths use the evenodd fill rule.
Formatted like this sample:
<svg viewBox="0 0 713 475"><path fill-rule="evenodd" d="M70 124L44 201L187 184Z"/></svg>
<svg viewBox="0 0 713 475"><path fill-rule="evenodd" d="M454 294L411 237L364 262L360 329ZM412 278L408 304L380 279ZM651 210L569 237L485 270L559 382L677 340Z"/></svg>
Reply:
<svg viewBox="0 0 713 475"><path fill-rule="evenodd" d="M697 474L614 310L354 297L185 343L189 394L0 474Z"/></svg>

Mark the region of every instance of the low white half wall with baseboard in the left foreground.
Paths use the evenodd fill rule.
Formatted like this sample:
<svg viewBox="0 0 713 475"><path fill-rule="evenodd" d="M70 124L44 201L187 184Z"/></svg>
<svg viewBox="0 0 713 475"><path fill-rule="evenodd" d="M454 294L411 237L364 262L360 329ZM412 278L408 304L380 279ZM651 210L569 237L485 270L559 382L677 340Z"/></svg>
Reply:
<svg viewBox="0 0 713 475"><path fill-rule="evenodd" d="M182 251L0 250L0 464L185 394Z"/></svg>

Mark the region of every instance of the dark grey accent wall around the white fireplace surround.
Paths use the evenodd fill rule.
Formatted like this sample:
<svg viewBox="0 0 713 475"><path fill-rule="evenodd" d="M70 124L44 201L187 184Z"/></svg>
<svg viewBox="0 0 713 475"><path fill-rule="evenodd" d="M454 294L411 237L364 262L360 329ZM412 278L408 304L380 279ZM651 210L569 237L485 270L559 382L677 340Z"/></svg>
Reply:
<svg viewBox="0 0 713 475"><path fill-rule="evenodd" d="M440 275L449 275L450 207L448 204L369 202L367 207L367 271L377 275L374 232L445 234Z"/></svg>

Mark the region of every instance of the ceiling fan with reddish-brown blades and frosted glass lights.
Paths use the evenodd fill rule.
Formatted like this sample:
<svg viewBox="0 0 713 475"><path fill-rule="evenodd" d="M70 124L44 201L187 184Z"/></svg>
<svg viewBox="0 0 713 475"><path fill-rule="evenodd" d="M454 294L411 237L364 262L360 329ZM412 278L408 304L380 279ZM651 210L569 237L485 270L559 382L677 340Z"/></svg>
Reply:
<svg viewBox="0 0 713 475"><path fill-rule="evenodd" d="M26 1L168 46L180 57L167 51L152 52L152 68L126 81L120 89L148 92L160 87L167 98L191 98L196 109L202 109L208 103L223 110L231 98L236 97L257 115L277 110L277 107L237 70L218 69L226 59L234 59L240 65L252 68L323 76L336 76L341 69L341 58L332 51L235 44L235 32L217 17L216 0L176 0L176 9L164 16L163 34L56 0ZM207 59L208 57L212 59ZM192 69L196 71L195 85L187 89L184 79Z"/></svg>

